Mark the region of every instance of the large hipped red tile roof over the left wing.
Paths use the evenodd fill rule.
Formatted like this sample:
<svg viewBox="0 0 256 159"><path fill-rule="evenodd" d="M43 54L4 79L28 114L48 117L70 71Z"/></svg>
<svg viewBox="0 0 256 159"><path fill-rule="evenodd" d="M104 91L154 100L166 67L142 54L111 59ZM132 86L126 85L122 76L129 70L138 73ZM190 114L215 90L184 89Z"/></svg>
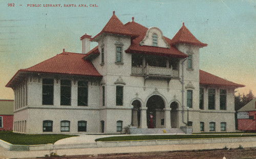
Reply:
<svg viewBox="0 0 256 159"><path fill-rule="evenodd" d="M84 54L63 51L61 54L57 54L28 69L20 69L6 86L12 87L14 78L22 72L102 77L91 61L83 60L83 57Z"/></svg>

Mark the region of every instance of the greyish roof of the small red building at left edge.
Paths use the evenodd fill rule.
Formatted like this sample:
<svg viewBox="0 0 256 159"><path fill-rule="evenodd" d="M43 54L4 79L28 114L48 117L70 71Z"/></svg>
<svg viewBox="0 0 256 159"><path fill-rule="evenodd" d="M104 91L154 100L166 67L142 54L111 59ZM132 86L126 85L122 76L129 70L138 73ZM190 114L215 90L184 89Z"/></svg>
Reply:
<svg viewBox="0 0 256 159"><path fill-rule="evenodd" d="M0 116L13 115L14 100L0 99Z"/></svg>

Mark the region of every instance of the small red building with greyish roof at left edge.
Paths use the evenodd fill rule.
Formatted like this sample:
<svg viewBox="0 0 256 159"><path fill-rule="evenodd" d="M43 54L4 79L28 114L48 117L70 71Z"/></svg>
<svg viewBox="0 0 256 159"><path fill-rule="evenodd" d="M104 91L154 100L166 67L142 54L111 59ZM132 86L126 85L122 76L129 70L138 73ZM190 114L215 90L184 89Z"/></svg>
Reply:
<svg viewBox="0 0 256 159"><path fill-rule="evenodd" d="M10 131L13 126L14 100L0 99L0 131Z"/></svg>

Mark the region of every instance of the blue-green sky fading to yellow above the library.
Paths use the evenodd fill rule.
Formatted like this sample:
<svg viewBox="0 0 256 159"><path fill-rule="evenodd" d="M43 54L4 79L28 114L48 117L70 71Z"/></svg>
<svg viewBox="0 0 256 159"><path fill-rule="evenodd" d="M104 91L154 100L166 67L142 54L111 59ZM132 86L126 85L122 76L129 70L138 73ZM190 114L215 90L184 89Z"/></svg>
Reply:
<svg viewBox="0 0 256 159"><path fill-rule="evenodd" d="M65 7L69 4L76 7ZM78 7L79 4L87 7ZM123 24L134 17L135 22L147 28L158 27L168 38L184 22L198 40L208 44L200 49L200 69L246 85L236 89L236 94L252 90L256 95L256 1L2 0L0 99L14 99L13 90L5 85L19 69L60 54L62 49L80 53L80 37L99 33L113 11ZM95 46L97 43L92 42L91 49Z"/></svg>

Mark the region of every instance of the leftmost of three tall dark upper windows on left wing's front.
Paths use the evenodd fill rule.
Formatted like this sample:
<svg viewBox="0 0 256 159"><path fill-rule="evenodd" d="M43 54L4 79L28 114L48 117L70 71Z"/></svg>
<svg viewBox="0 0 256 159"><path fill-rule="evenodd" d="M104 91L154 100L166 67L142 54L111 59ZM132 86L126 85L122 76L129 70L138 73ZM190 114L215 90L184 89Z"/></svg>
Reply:
<svg viewBox="0 0 256 159"><path fill-rule="evenodd" d="M53 105L53 79L42 79L42 105Z"/></svg>

